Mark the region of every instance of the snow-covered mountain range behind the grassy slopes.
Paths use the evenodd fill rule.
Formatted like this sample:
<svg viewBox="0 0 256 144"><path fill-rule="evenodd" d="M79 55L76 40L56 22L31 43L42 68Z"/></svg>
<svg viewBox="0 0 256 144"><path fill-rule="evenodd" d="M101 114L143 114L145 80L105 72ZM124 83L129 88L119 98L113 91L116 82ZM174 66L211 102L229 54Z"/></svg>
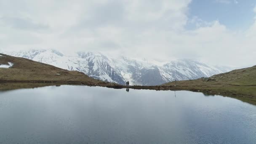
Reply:
<svg viewBox="0 0 256 144"><path fill-rule="evenodd" d="M69 56L54 49L3 52L17 57L51 64L68 70L77 70L96 79L124 85L160 85L173 80L189 80L210 77L226 72L226 69L192 60L159 62L121 57L114 59L102 53L77 52Z"/></svg>

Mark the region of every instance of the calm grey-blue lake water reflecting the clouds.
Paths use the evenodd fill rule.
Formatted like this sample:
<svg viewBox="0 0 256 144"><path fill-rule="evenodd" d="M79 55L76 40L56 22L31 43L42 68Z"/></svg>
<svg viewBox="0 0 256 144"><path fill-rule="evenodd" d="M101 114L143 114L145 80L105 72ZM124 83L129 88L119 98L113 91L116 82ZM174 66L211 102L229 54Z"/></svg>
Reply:
<svg viewBox="0 0 256 144"><path fill-rule="evenodd" d="M189 91L0 92L0 144L256 144L256 106Z"/></svg>

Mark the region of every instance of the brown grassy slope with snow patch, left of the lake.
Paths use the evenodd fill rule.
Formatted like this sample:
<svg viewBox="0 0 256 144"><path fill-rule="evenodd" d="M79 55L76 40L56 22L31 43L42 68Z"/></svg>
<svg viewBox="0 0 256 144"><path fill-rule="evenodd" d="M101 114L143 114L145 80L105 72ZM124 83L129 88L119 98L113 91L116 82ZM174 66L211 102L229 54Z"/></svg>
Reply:
<svg viewBox="0 0 256 144"><path fill-rule="evenodd" d="M29 59L8 56L0 53L0 64L13 63L10 68L0 68L0 82L59 83L113 86L115 83L103 82L88 77L82 72L68 71Z"/></svg>

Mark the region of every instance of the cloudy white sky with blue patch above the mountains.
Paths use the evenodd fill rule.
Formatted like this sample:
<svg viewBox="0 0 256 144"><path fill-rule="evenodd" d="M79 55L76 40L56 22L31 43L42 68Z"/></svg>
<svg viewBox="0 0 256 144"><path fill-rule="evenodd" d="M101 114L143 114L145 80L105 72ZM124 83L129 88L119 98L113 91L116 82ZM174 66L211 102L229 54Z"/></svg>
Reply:
<svg viewBox="0 0 256 144"><path fill-rule="evenodd" d="M256 65L255 0L0 0L0 50Z"/></svg>

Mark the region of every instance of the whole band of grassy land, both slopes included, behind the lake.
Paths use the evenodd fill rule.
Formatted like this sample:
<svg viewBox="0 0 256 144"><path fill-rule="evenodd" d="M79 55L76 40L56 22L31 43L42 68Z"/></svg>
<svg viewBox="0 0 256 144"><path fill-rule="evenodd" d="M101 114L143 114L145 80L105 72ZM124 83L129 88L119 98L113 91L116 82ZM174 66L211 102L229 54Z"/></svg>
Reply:
<svg viewBox="0 0 256 144"><path fill-rule="evenodd" d="M69 71L43 64L29 59L18 58L8 55L1 57L1 64L13 65L10 68L0 68L0 83L16 83L12 86L5 85L0 90L9 90L15 88L37 87L38 85L88 85L107 88L132 88L156 91L193 91L201 92L205 95L235 96L240 99L256 98L256 83L254 76L256 67L246 69L237 69L224 74L213 75L212 77L202 77L197 80L183 80L171 83L165 83L157 86L125 86L117 83L97 80L89 77L82 72ZM20 86L18 83L23 83ZM30 83L30 84L25 84ZM254 101L256 103L256 101Z"/></svg>

